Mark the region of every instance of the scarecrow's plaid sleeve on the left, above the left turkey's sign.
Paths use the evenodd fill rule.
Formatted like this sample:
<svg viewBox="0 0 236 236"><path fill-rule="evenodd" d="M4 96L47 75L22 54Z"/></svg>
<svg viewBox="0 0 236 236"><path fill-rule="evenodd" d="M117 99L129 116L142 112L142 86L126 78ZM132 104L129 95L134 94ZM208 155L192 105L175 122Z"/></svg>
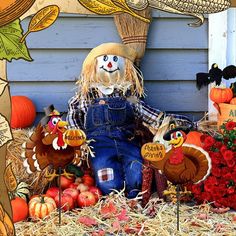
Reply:
<svg viewBox="0 0 236 236"><path fill-rule="evenodd" d="M73 96L68 101L68 113L66 120L72 129L84 129L84 112L81 109L81 100L78 96Z"/></svg>

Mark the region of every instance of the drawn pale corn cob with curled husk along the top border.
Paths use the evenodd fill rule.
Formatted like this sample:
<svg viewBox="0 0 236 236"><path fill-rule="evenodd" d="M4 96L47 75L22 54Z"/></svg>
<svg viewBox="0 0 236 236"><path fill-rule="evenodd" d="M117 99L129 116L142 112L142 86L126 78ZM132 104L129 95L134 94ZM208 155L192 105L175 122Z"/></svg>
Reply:
<svg viewBox="0 0 236 236"><path fill-rule="evenodd" d="M136 10L151 7L175 14L190 15L198 21L190 26L200 26L204 22L203 14L217 13L230 7L230 0L126 0L127 4Z"/></svg>

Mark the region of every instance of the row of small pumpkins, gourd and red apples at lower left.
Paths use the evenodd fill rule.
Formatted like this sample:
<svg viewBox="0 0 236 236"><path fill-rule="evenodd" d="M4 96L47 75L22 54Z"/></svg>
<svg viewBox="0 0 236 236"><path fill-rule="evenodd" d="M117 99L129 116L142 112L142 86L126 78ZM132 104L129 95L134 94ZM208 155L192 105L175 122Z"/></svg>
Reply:
<svg viewBox="0 0 236 236"><path fill-rule="evenodd" d="M60 182L62 188L61 209L63 211L95 205L102 196L101 191L94 186L93 177L89 174L77 178L75 176L71 178L61 176ZM28 217L33 221L44 219L59 208L58 186L50 187L44 194L33 195L29 198L28 184L20 182L15 193L11 195L14 223L27 220Z"/></svg>

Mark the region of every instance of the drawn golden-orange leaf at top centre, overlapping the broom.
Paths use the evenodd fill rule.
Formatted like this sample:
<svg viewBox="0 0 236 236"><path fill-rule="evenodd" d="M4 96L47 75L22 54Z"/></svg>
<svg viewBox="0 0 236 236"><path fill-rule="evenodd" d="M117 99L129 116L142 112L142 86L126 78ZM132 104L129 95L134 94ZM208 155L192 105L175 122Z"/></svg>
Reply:
<svg viewBox="0 0 236 236"><path fill-rule="evenodd" d="M144 22L150 20L134 12L126 0L78 0L82 6L98 15L111 15L114 13L128 13Z"/></svg>

